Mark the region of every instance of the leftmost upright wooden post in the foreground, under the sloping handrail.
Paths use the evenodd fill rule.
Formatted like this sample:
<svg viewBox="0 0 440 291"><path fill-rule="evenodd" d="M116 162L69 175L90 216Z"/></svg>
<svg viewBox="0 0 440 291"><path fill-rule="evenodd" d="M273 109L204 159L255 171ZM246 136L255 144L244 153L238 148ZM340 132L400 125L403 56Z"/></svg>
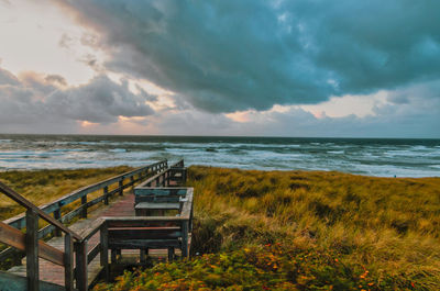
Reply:
<svg viewBox="0 0 440 291"><path fill-rule="evenodd" d="M26 277L28 290L40 290L38 270L38 215L32 209L26 211Z"/></svg>

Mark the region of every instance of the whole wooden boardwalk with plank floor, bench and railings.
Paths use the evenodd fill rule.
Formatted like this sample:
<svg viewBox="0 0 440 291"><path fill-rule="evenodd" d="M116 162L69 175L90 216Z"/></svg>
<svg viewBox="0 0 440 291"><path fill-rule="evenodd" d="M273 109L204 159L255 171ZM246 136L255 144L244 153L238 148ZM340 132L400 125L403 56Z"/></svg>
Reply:
<svg viewBox="0 0 440 291"><path fill-rule="evenodd" d="M124 182L127 179L130 179L129 183ZM167 167L165 160L79 189L41 209L0 183L2 193L28 209L25 215L12 217L0 224L0 231L2 231L0 240L22 251L25 250L28 256L28 260L24 257L21 265L9 269L9 275L0 276L3 288L10 288L8 276L19 276L18 278L28 279L28 288L23 287L20 290L38 290L38 282L53 283L63 290L64 287L65 290L74 290L75 283L76 289L87 290L96 281L98 275L106 280L109 279L109 266L119 268L125 264L145 266L145 251L148 251L153 260L188 256L193 225L193 188L185 190L178 188L185 180L184 161L180 160ZM141 192L152 192L165 200L177 199L180 203L178 214L170 216L141 214L142 216L134 217L136 199L133 190L139 181L143 186ZM118 187L110 188L110 184L114 183ZM103 191L102 195L88 201L87 194L99 189ZM157 191L160 193L155 193ZM81 202L78 209L64 216L61 215L62 206L77 200ZM55 220L47 213L52 213ZM38 219L45 220L50 225L38 231ZM59 222L70 222L70 225L66 227ZM23 230L26 225L25 236L13 228ZM38 237L46 237L51 233L55 236L46 243L38 240ZM9 234L13 237L9 237ZM38 254L40 248L41 254ZM0 257L6 259L11 254L13 253L7 249L0 253ZM110 260L112 265L109 265ZM20 260L15 264L20 264ZM25 282L21 283L25 284Z"/></svg>

